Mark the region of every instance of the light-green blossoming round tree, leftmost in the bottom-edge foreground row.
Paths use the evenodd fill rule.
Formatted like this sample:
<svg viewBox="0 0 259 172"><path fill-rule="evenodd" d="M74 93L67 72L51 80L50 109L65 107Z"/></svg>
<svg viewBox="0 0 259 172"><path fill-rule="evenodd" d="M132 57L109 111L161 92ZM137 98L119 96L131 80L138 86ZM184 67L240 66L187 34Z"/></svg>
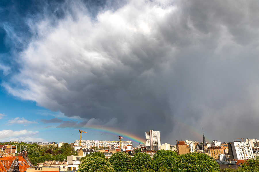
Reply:
<svg viewBox="0 0 259 172"><path fill-rule="evenodd" d="M88 156L78 165L77 172L114 172L111 164L99 156Z"/></svg>

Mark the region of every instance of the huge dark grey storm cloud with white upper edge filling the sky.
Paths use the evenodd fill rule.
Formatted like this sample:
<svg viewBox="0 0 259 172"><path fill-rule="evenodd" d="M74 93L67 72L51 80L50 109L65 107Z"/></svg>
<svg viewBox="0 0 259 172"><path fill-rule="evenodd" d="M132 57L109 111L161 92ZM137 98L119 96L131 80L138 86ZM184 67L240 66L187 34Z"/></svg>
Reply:
<svg viewBox="0 0 259 172"><path fill-rule="evenodd" d="M55 24L50 15L28 19L22 69L2 83L87 121L58 127L159 130L161 142L199 141L202 127L207 140L256 137L258 1L129 1L98 8L94 19L88 3L64 3Z"/></svg>

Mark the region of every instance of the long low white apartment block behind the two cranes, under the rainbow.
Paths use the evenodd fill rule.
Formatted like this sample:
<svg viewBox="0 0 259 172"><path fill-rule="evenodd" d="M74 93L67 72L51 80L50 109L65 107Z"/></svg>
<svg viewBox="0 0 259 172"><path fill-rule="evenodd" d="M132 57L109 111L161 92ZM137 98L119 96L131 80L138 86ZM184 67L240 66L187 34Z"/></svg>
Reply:
<svg viewBox="0 0 259 172"><path fill-rule="evenodd" d="M81 140L81 146L82 148L92 148L92 147L108 147L111 148L111 145L119 144L119 141L100 141L100 140ZM123 149L126 148L126 146L132 146L131 141L121 141L121 146ZM79 146L79 140L76 140L74 142L74 147Z"/></svg>

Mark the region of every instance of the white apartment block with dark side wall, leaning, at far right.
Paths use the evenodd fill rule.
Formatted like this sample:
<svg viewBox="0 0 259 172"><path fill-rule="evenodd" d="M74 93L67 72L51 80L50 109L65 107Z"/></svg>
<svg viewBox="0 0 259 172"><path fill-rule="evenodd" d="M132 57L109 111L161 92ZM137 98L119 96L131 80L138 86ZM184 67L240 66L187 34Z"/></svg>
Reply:
<svg viewBox="0 0 259 172"><path fill-rule="evenodd" d="M250 159L254 158L250 142L230 142L228 152L231 159Z"/></svg>

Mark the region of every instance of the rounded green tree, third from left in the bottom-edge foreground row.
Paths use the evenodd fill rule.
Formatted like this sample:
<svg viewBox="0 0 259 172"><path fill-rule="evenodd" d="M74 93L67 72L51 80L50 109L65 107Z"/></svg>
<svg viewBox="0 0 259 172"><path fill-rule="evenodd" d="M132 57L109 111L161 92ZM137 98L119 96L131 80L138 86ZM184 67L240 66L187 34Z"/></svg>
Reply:
<svg viewBox="0 0 259 172"><path fill-rule="evenodd" d="M132 171L142 172L145 168L146 170L152 169L152 159L146 153L136 153L131 159L130 168Z"/></svg>

